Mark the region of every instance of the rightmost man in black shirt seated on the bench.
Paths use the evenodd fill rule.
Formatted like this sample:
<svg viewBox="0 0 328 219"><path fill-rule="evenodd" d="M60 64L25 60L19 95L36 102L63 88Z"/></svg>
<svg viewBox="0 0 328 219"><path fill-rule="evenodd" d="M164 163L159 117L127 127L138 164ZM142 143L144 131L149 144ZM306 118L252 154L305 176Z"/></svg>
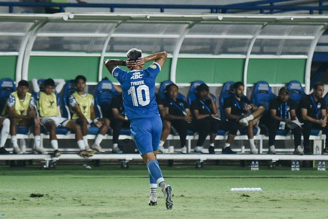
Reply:
<svg viewBox="0 0 328 219"><path fill-rule="evenodd" d="M304 153L311 153L310 149L310 134L312 128L324 130L326 133L327 116L326 116L326 103L322 98L324 86L318 82L313 87L313 93L304 96L299 102L299 112L303 125L303 145ZM324 151L328 151L327 141Z"/></svg>

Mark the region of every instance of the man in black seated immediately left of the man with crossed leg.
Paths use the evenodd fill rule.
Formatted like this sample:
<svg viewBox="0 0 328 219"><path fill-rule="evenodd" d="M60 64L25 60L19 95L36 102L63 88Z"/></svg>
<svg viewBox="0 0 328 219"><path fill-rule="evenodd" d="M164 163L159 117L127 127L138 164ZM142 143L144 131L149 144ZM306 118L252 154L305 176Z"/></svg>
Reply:
<svg viewBox="0 0 328 219"><path fill-rule="evenodd" d="M226 145L230 146L238 131L237 124L228 121L220 121L217 114L217 106L213 97L209 93L209 87L206 84L201 84L197 87L197 99L191 103L191 110L194 115L193 126L196 127L199 138L196 143L194 151L196 153L203 153L202 144L210 134L209 152L214 154L214 142L219 127L223 130L229 131L229 136ZM230 147L228 146L228 149ZM226 153L235 153L231 149ZM223 152L222 152L223 153Z"/></svg>

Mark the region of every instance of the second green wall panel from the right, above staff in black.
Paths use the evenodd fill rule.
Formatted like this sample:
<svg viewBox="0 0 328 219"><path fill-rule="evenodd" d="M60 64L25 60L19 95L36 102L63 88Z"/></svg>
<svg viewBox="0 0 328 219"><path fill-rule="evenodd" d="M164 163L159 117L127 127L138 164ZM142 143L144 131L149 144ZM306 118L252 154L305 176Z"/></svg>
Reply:
<svg viewBox="0 0 328 219"><path fill-rule="evenodd" d="M242 81L243 58L179 58L176 82L190 83L201 80L205 83Z"/></svg>

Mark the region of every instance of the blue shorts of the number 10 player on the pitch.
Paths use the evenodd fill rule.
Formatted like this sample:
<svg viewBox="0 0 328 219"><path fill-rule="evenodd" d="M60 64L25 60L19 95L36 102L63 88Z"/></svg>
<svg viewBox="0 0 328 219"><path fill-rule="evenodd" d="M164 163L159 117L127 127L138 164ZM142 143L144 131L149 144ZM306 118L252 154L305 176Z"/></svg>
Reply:
<svg viewBox="0 0 328 219"><path fill-rule="evenodd" d="M156 151L162 133L159 115L151 118L134 118L130 123L130 130L139 153L142 155Z"/></svg>

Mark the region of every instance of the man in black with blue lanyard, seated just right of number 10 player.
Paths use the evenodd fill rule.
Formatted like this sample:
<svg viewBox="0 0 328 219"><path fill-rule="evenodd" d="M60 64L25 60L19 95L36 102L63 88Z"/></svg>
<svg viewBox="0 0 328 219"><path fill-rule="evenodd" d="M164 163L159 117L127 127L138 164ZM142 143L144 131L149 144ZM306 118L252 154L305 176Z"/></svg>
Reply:
<svg viewBox="0 0 328 219"><path fill-rule="evenodd" d="M177 98L178 86L170 84L166 87L166 98L163 99L165 118L171 122L180 136L181 153L187 153L186 137L192 116L189 105L183 99Z"/></svg>

